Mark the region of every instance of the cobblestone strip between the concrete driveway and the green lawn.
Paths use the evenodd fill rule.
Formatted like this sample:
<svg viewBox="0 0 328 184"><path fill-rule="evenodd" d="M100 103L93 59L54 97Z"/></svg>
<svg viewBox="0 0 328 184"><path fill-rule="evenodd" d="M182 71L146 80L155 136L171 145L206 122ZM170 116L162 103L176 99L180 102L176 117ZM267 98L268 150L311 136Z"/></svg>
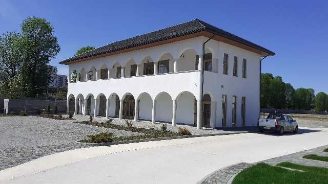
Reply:
<svg viewBox="0 0 328 184"><path fill-rule="evenodd" d="M229 179L236 173L242 171L243 169L251 167L253 164L248 163L239 163L233 166L229 166L223 169L220 169L206 179L204 179L201 184L225 184L228 183Z"/></svg>

